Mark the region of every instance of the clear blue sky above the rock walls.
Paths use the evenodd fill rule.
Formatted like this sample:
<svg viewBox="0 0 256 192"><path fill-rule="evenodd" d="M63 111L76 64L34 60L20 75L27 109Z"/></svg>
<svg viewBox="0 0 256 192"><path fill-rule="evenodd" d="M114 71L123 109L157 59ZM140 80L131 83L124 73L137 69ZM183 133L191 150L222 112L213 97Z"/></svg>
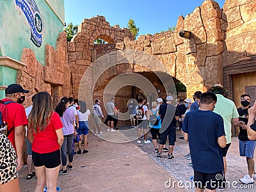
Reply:
<svg viewBox="0 0 256 192"><path fill-rule="evenodd" d="M203 0L64 0L65 22L81 24L83 19L90 19L96 15L106 17L111 26L119 24L126 28L129 19L133 19L139 35L155 34L169 27L176 26L180 15L186 17L200 6ZM216 0L223 7L225 0Z"/></svg>

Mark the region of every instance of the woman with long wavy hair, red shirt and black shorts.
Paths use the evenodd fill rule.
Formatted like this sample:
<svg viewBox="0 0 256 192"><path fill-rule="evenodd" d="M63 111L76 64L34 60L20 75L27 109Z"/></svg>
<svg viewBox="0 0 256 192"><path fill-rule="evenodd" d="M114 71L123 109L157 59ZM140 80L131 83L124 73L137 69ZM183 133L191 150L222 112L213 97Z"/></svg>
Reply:
<svg viewBox="0 0 256 192"><path fill-rule="evenodd" d="M60 170L60 147L63 143L63 125L52 108L52 98L47 92L35 95L28 117L28 140L32 143L32 159L37 183L35 192L56 191Z"/></svg>

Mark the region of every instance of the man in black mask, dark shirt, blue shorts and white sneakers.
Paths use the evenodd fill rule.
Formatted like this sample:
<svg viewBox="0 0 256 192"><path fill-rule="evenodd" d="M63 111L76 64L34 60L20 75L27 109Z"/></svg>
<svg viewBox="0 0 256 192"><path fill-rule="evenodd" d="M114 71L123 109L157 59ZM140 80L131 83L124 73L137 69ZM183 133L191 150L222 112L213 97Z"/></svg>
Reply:
<svg viewBox="0 0 256 192"><path fill-rule="evenodd" d="M240 102L241 102L241 108L238 108L238 114L239 114L239 123L244 122L245 125L248 123L248 109L250 108L250 95L243 94L240 97ZM246 162L248 165L248 174L245 175L242 179L240 179L241 182L244 184L252 184L253 179L256 179L256 174L254 170L254 161L253 161L253 156L254 156L254 150L256 146L256 141L250 141L248 139L248 134L246 131L246 127L239 127L240 132L239 132L239 152L240 156L245 156L246 157Z"/></svg>

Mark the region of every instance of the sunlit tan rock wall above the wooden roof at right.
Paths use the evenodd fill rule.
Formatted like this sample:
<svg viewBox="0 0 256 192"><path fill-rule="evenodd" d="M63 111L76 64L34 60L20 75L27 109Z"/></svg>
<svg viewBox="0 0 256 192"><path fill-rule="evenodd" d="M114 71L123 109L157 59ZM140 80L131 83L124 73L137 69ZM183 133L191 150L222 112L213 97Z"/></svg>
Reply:
<svg viewBox="0 0 256 192"><path fill-rule="evenodd" d="M248 56L256 54L256 1L225 1L221 29L225 36L223 67L238 61L244 50Z"/></svg>

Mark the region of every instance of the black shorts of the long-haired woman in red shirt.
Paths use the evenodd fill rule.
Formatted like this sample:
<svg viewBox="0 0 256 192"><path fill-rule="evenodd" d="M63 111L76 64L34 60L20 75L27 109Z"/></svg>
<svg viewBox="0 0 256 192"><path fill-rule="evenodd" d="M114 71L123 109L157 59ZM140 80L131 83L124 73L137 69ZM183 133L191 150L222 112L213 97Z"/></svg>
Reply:
<svg viewBox="0 0 256 192"><path fill-rule="evenodd" d="M56 168L60 165L60 149L47 154L38 154L32 151L32 159L34 166L45 166L49 169Z"/></svg>

